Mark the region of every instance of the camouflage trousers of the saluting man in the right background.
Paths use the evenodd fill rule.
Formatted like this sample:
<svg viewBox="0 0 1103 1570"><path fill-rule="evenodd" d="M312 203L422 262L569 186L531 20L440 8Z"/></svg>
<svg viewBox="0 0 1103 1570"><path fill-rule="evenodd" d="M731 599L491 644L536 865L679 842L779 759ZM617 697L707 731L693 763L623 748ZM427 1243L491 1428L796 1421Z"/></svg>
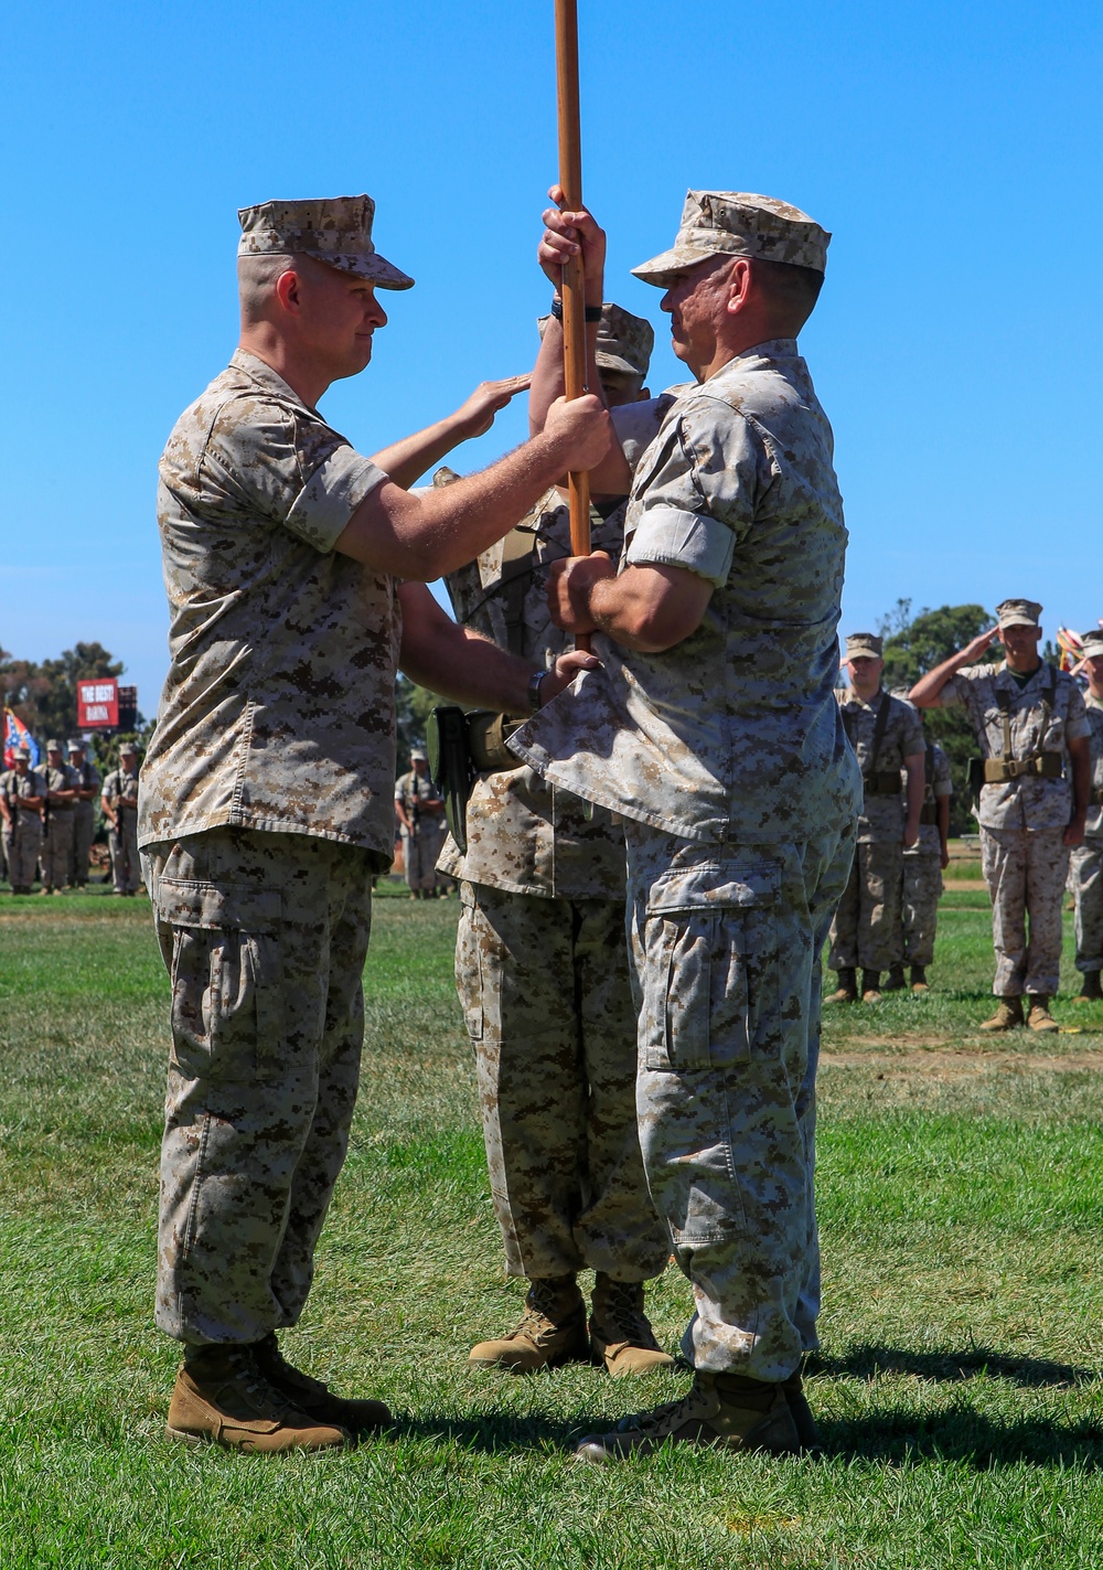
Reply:
<svg viewBox="0 0 1103 1570"><path fill-rule="evenodd" d="M981 860L992 895L996 997L1023 992L1054 997L1061 986L1061 906L1068 876L1064 832L981 826Z"/></svg>

